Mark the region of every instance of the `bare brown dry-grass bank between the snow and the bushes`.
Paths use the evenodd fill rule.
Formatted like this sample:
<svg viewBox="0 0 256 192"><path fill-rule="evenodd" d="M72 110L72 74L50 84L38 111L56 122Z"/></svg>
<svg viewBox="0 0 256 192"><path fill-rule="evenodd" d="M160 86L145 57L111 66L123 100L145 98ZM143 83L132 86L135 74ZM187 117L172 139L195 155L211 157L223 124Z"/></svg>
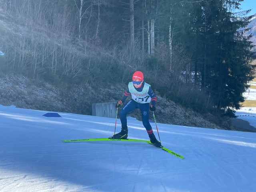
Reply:
<svg viewBox="0 0 256 192"><path fill-rule="evenodd" d="M110 86L108 88L92 88L88 84L84 86L62 85L57 87L20 75L2 75L0 77L0 104L35 110L91 115L92 103L117 101L122 98L125 89L125 85ZM190 109L182 108L160 96L157 98L155 114L159 123L220 128ZM128 99L126 102L128 102ZM129 115L141 120L138 110ZM213 116L209 116L208 119L214 119Z"/></svg>

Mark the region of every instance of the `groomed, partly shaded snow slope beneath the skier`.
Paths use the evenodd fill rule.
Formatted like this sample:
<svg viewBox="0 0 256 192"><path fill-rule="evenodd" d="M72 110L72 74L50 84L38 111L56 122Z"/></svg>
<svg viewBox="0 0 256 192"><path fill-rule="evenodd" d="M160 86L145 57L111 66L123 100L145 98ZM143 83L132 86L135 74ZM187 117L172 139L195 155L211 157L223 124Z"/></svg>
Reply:
<svg viewBox="0 0 256 192"><path fill-rule="evenodd" d="M112 136L115 119L45 113L0 105L1 192L255 191L255 133L158 124L180 159L147 143L64 143ZM148 139L142 122L128 128L129 138Z"/></svg>

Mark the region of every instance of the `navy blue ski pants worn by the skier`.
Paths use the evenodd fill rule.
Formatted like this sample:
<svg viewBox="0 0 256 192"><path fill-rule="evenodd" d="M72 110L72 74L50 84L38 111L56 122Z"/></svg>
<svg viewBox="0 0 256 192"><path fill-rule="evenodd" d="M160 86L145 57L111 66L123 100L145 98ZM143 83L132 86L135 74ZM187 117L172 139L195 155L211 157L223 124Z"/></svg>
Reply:
<svg viewBox="0 0 256 192"><path fill-rule="evenodd" d="M120 121L122 123L122 127L127 126L127 118L126 115L135 110L136 108L140 109L141 116L142 116L142 123L146 128L148 134L152 134L152 127L149 123L149 103L138 103L131 99L120 111Z"/></svg>

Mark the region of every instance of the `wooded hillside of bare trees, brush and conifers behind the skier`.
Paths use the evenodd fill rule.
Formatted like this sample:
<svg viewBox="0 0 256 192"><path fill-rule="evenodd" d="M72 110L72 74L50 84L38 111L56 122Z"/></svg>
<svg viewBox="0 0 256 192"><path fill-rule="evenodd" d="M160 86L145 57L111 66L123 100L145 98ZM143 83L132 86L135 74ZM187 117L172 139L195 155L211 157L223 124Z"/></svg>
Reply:
<svg viewBox="0 0 256 192"><path fill-rule="evenodd" d="M0 0L0 104L90 115L141 70L158 122L230 129L254 77L240 1Z"/></svg>

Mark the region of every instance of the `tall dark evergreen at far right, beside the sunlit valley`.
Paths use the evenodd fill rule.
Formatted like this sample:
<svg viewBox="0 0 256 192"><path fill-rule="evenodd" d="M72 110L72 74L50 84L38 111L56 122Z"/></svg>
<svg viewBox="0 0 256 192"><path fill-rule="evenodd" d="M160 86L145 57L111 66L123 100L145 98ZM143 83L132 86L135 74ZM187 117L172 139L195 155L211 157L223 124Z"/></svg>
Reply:
<svg viewBox="0 0 256 192"><path fill-rule="evenodd" d="M230 1L229 1L230 2ZM234 0L232 3L240 2ZM243 30L249 18L228 12L227 1L209 1L206 17L206 49L202 68L202 88L214 101L216 112L240 108L247 83L253 79L252 42Z"/></svg>

